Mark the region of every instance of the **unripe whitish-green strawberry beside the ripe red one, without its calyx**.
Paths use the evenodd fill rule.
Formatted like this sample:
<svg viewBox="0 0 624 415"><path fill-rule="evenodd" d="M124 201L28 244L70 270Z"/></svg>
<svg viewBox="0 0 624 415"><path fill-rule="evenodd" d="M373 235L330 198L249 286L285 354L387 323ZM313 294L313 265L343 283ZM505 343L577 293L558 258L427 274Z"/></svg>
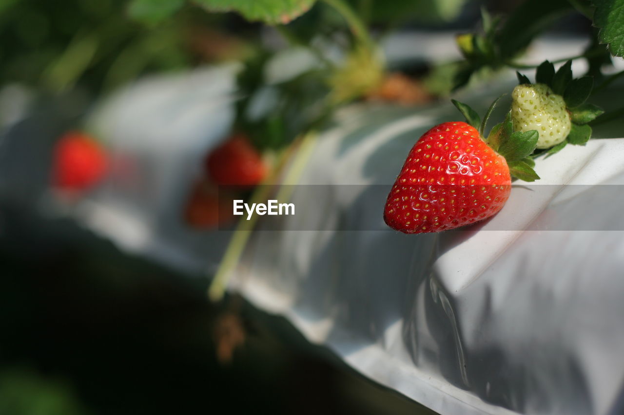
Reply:
<svg viewBox="0 0 624 415"><path fill-rule="evenodd" d="M511 116L515 131L537 130L537 148L561 143L572 122L561 95L544 83L517 85L512 92Z"/></svg>

